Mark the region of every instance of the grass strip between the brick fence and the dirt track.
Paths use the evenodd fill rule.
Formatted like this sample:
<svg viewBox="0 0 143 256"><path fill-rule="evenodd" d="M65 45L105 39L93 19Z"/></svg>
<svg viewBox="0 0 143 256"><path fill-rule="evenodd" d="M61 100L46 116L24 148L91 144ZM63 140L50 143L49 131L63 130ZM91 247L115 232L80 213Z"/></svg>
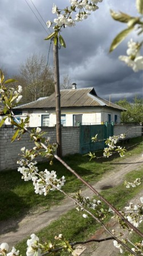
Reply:
<svg viewBox="0 0 143 256"><path fill-rule="evenodd" d="M142 137L132 139L130 145L139 143ZM132 151L127 153L137 154L141 152L141 145L132 148ZM101 155L101 151L97 152ZM120 162L121 157L113 156L109 159L92 160L89 162L89 157L81 156L79 154L69 155L63 157L65 162L71 166L78 174L90 183L95 183L108 171L116 168L115 162ZM64 191L73 193L83 187L83 184L75 178L67 169L58 161L54 161L54 165L50 166L48 163L40 163L39 170L55 170L58 177L66 176L66 185ZM34 211L48 210L51 206L59 204L60 200L64 198L63 194L54 191L47 196L36 195L32 182L24 182L21 179L21 174L17 170L0 172L0 220L7 220L10 218L22 218L26 214L32 214Z"/></svg>

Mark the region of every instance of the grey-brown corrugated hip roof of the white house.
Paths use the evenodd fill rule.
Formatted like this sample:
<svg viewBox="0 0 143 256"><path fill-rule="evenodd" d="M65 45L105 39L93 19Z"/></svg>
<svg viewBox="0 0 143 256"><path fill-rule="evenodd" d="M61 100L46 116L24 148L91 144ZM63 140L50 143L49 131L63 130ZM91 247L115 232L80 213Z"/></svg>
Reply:
<svg viewBox="0 0 143 256"><path fill-rule="evenodd" d="M60 105L61 108L72 107L111 107L124 110L120 106L113 104L107 100L101 99L97 96L95 89L80 88L80 89L64 89L60 90ZM42 108L55 108L55 93L49 97L32 101L16 107L17 109L42 109Z"/></svg>

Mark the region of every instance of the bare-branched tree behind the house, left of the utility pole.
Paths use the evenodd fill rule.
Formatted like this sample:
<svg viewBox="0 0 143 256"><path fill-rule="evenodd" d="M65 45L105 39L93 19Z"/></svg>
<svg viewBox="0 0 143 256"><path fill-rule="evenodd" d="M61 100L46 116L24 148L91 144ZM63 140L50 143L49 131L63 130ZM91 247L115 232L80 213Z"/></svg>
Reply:
<svg viewBox="0 0 143 256"><path fill-rule="evenodd" d="M28 57L21 64L20 75L16 78L23 87L23 103L50 96L54 92L53 72L42 55L32 54Z"/></svg>

